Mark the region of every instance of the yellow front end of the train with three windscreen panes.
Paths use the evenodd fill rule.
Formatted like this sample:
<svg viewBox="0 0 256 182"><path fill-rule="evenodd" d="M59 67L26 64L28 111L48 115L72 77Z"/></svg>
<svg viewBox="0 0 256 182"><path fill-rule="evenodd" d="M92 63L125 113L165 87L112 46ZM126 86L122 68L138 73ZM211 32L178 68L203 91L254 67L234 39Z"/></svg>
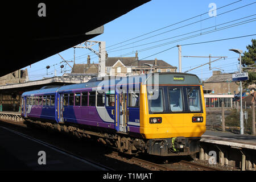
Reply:
<svg viewBox="0 0 256 182"><path fill-rule="evenodd" d="M141 84L140 133L152 155L193 155L205 132L203 88L196 75L153 74Z"/></svg>

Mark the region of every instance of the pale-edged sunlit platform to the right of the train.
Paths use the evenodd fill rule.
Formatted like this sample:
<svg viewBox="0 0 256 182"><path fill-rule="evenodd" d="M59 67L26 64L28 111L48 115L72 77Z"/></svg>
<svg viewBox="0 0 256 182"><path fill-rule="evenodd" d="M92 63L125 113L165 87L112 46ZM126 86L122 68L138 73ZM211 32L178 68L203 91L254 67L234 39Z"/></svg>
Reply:
<svg viewBox="0 0 256 182"><path fill-rule="evenodd" d="M230 132L207 130L201 136L200 142L208 142L256 150L256 136L253 135L240 135Z"/></svg>

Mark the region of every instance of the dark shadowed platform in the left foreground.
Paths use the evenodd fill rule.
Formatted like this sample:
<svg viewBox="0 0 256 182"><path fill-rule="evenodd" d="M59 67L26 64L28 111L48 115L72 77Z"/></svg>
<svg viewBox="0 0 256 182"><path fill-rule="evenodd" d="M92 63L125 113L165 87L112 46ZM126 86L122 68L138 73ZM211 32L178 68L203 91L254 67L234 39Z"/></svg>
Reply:
<svg viewBox="0 0 256 182"><path fill-rule="evenodd" d="M45 155L39 151L44 151ZM0 171L6 170L106 171L109 169L0 126Z"/></svg>

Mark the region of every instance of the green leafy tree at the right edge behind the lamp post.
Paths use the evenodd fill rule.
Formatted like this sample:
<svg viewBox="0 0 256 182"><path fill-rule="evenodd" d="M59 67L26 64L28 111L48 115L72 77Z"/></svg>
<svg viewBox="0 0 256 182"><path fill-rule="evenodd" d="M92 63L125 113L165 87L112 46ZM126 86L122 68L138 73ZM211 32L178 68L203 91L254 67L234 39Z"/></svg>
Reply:
<svg viewBox="0 0 256 182"><path fill-rule="evenodd" d="M243 52L242 57L242 66L243 72L248 72L249 80L243 82L243 86L247 87L256 82L256 39L251 39L251 45L246 46L247 52ZM250 67L250 68L246 68ZM254 68L251 68L254 67Z"/></svg>

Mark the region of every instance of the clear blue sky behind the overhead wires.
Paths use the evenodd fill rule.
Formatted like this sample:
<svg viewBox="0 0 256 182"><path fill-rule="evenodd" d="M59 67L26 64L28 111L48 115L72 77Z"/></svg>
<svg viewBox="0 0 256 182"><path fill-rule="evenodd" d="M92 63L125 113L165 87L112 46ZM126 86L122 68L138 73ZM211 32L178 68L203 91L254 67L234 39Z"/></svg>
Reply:
<svg viewBox="0 0 256 182"><path fill-rule="evenodd" d="M104 25L104 34L96 36L92 40L105 41L106 51L109 57L134 57L135 51L138 50L139 59L161 52L165 49L177 46L178 44L189 44L197 42L207 42L210 40L233 38L237 36L256 34L256 3L255 1L216 1L216 0L195 0L195 1L170 1L170 0L152 0L144 5L137 7L129 13L113 20ZM218 9L222 6L229 5ZM216 14L210 18L208 11L213 7L209 7L210 3L214 3L217 7ZM253 3L252 5L249 5ZM246 6L248 5L248 6ZM245 7L242 7L245 6ZM241 8L239 8L241 7ZM239 9L237 9L239 8ZM237 9L237 10L234 10ZM230 11L233 10L233 11ZM114 9L113 9L114 11ZM230 12L228 12L230 11ZM204 14L206 13L206 14ZM203 14L201 16L197 16ZM182 20L192 18L182 23ZM247 18L245 18L248 16ZM208 19L207 19L208 18ZM205 19L205 20L204 20ZM240 19L240 20L238 20ZM233 22L231 22L233 21ZM197 22L197 23L194 23ZM228 23L230 22L230 23ZM86 23L86 18L85 22ZM171 24L174 26L170 26ZM191 24L191 25L188 25ZM220 25L221 24L221 25ZM240 24L240 25L238 25ZM167 28L163 28L169 26ZM233 27L232 27L233 26ZM211 28L210 28L211 27ZM158 30L163 28L162 30ZM223 30L221 30L223 29ZM141 36L148 32L151 34ZM167 32L168 31L168 32ZM164 33L166 32L166 33ZM193 33L192 33L193 32ZM157 35L156 34L160 34ZM207 34L206 34L207 33ZM186 35L183 35L186 34ZM201 35L200 35L201 34ZM141 36L137 39L130 41L129 39ZM152 38L149 38L153 36ZM189 38L189 36L195 36ZM212 63L214 69L209 70L209 65L197 68L191 72L199 76L201 79L206 80L212 75L212 71L224 70L225 73L231 73L238 71L238 54L229 51L231 48L242 49L246 51L246 46L251 44L251 39L255 39L256 36L248 36L245 38L224 40L221 42L212 42L204 44L195 44L192 46L182 46L182 56L227 56L228 59L218 60ZM145 40L142 40L145 39ZM166 39L166 40L163 40ZM185 39L185 40L181 40ZM162 41L160 41L162 40ZM123 42L123 43L121 43ZM155 42L155 43L152 43ZM121 44L117 44L121 43ZM160 44L166 43L165 46ZM116 46L110 47L114 44ZM129 45L126 45L129 44ZM146 44L142 46L143 44ZM140 51L149 47L155 46L155 48L148 49L146 51ZM130 48L129 48L130 47ZM97 46L93 47L98 49ZM115 49L113 49L115 48ZM110 50L112 49L112 50ZM130 53L130 54L128 54ZM76 49L76 63L86 63L87 55L91 56L91 63L98 63L98 57L87 49ZM65 60L73 60L73 48L69 48L60 55ZM168 51L159 53L154 56L147 57L144 60L153 59L164 60L167 63L178 67L179 57L178 48L172 48ZM217 59L217 58L216 58ZM215 60L214 58L211 59ZM28 69L28 76L30 80L40 80L43 77L54 76L54 67L56 68L56 75L61 76L63 73L60 72L60 65L63 64L59 55L53 55L39 61L38 63L32 64L31 67L25 67ZM182 72L189 69L195 68L198 65L209 62L209 58L191 58L182 57ZM53 67L53 65L55 66ZM69 63L71 66L73 63ZM50 65L48 74L46 75L46 66ZM65 68L65 69L64 69ZM70 72L71 68L64 64L63 71ZM219 69L216 69L219 68Z"/></svg>

